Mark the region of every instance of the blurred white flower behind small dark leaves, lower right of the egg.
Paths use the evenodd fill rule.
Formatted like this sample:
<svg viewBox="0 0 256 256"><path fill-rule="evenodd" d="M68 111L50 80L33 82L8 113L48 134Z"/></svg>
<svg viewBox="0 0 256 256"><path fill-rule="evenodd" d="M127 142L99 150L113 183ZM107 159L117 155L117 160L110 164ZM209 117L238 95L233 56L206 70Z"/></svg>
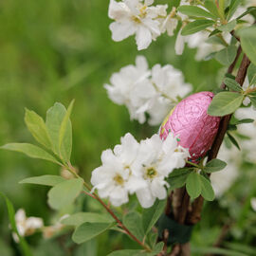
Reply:
<svg viewBox="0 0 256 256"><path fill-rule="evenodd" d="M235 148L228 149L223 143L218 158L227 162L227 167L220 172L210 174L210 181L216 197L227 192L238 177L238 167L241 162L241 153Z"/></svg>

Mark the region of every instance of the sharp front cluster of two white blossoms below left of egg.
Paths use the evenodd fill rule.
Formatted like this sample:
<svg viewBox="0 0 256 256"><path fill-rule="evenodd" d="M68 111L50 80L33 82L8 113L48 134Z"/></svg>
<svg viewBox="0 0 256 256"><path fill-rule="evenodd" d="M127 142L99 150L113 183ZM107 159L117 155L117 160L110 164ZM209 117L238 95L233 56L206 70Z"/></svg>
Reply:
<svg viewBox="0 0 256 256"><path fill-rule="evenodd" d="M175 168L184 167L189 155L172 134L164 141L154 135L140 143L126 134L114 151L102 152L102 165L91 177L93 190L117 207L129 201L129 194L136 193L140 205L150 208L156 198L167 196L165 178Z"/></svg>

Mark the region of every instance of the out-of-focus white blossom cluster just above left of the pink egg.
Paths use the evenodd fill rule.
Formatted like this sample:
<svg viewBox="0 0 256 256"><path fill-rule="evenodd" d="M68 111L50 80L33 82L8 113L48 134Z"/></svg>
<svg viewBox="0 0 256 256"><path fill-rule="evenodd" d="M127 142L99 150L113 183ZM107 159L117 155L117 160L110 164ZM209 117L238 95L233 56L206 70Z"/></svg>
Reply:
<svg viewBox="0 0 256 256"><path fill-rule="evenodd" d="M143 56L137 56L136 65L129 64L114 73L110 82L104 84L109 98L124 104L131 119L139 123L146 121L148 113L151 125L158 125L177 103L176 98L183 98L192 90L180 70L171 64L155 64L150 70Z"/></svg>

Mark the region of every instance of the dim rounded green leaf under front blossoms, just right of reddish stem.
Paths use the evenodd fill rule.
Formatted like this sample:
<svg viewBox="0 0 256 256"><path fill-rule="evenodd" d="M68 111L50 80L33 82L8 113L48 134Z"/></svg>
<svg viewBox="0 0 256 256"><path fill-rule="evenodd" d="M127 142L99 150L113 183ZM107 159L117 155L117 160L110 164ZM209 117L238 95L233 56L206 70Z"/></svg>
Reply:
<svg viewBox="0 0 256 256"><path fill-rule="evenodd" d="M134 234L138 240L143 240L144 230L142 227L142 218L136 211L128 212L124 215L123 224Z"/></svg>

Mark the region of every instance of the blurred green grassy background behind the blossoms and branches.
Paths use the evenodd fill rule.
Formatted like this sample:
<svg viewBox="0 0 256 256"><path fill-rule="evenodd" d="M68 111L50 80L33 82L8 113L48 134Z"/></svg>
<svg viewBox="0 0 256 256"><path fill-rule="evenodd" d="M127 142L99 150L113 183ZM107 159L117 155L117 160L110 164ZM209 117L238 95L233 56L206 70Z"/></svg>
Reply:
<svg viewBox="0 0 256 256"><path fill-rule="evenodd" d="M82 177L89 180L91 171L101 164L101 152L119 143L119 137L127 132L137 139L150 137L158 128L130 121L127 109L107 98L103 83L109 81L113 72L123 65L134 64L136 56L143 54L150 66L173 64L181 69L194 91L218 87L222 66L214 60L195 62L193 49L186 48L182 56L176 56L175 37L163 35L141 52L137 52L134 37L113 42L107 10L108 1L102 0L0 1L1 145L32 141L24 123L25 107L45 118L46 110L55 101L67 106L75 99L72 163L80 169ZM28 176L60 174L57 166L1 151L0 168L0 191L9 196L15 210L24 208L27 216L42 217L46 225L56 222L61 213L48 208L47 189L19 185L18 181ZM234 199L252 194L256 182L247 184L246 191L245 184L247 180L243 182L242 178L240 185L227 197L229 202L224 210L218 202L207 206L203 220L193 234L194 247L208 247L217 240L225 220L229 219L229 209L234 211L232 220L240 220L240 226L235 226L234 234L230 234L228 240L232 243L241 240L241 233L243 236L248 225L245 223L247 214L252 213L248 202L245 206L244 201L242 205ZM100 210L98 204L86 200L80 198L76 210ZM7 210L2 200L0 207L0 255L20 255L11 240ZM255 215L252 218L256 221ZM255 242L256 228L251 232L243 236L244 246ZM35 234L28 238L28 242L35 255L53 256L103 256L113 249L137 247L129 238L116 232L102 234L99 239L75 247L72 252L69 247L73 245L68 236L43 240L41 234ZM202 254L194 252L194 255Z"/></svg>

